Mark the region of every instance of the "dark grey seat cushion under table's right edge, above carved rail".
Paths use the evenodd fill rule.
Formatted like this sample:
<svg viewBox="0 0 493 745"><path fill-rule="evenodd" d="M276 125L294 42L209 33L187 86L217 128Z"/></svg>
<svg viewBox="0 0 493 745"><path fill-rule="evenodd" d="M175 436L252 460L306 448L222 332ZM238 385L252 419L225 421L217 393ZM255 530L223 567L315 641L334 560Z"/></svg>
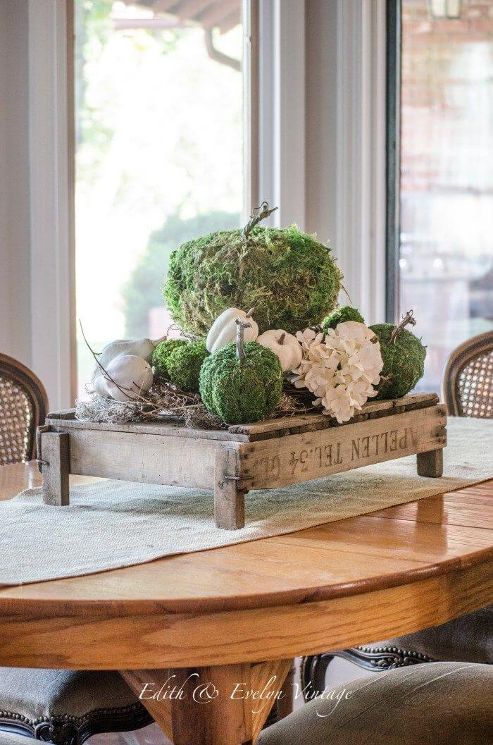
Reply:
<svg viewBox="0 0 493 745"><path fill-rule="evenodd" d="M366 644L363 650L382 647L424 654L439 662L493 662L493 606L455 618L442 626L398 638Z"/></svg>

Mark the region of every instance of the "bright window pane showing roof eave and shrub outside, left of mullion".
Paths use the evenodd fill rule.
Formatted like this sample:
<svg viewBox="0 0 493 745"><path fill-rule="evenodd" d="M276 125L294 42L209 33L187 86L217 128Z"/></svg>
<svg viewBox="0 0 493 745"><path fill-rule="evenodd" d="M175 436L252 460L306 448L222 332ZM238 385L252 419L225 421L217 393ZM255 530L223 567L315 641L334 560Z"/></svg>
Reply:
<svg viewBox="0 0 493 745"><path fill-rule="evenodd" d="M168 12L169 11L169 12ZM75 0L77 317L159 338L176 246L243 203L241 0ZM92 356L78 329L78 393Z"/></svg>

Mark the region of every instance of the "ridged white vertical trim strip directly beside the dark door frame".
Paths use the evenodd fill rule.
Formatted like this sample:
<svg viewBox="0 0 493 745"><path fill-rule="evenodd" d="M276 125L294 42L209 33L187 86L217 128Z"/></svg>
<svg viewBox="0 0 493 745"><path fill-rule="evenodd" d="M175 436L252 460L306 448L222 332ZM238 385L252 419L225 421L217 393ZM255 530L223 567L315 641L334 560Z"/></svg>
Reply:
<svg viewBox="0 0 493 745"><path fill-rule="evenodd" d="M386 4L337 3L337 233L346 288L383 321L386 298Z"/></svg>

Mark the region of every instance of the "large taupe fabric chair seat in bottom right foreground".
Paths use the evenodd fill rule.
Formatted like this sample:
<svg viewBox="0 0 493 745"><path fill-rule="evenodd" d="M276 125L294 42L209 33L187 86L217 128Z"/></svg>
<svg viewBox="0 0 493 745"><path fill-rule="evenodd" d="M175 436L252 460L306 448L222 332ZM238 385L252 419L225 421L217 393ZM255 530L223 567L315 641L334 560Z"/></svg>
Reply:
<svg viewBox="0 0 493 745"><path fill-rule="evenodd" d="M258 745L492 742L490 665L430 662L359 678L330 693L264 729Z"/></svg>

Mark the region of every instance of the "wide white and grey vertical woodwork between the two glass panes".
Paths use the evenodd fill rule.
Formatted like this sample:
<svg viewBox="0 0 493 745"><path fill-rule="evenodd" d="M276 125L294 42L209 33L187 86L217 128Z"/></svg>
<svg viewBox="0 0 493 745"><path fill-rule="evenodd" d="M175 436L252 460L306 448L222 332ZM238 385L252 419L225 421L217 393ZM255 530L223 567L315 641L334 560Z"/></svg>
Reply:
<svg viewBox="0 0 493 745"><path fill-rule="evenodd" d="M296 222L330 241L352 302L375 323L386 297L386 4L310 1L327 25L317 35L317 70L306 64L306 4L259 0L258 197L279 206L267 224ZM329 25L337 28L335 75ZM323 90L308 85L311 75ZM309 141L314 111L319 132ZM308 147L317 148L311 157Z"/></svg>

